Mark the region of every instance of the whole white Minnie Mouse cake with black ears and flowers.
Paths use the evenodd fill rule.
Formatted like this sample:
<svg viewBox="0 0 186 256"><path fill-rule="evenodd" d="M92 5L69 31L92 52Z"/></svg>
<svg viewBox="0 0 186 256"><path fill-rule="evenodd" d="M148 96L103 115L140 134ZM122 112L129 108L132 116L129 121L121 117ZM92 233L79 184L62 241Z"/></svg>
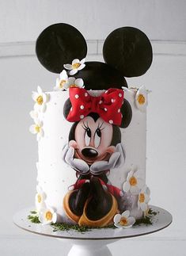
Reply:
<svg viewBox="0 0 186 256"><path fill-rule="evenodd" d="M104 62L85 62L87 45L71 25L55 24L36 40L36 55L59 74L52 91L32 92L39 159L36 214L42 224L131 227L148 214L145 86L152 62L147 36L132 27L104 40Z"/></svg>

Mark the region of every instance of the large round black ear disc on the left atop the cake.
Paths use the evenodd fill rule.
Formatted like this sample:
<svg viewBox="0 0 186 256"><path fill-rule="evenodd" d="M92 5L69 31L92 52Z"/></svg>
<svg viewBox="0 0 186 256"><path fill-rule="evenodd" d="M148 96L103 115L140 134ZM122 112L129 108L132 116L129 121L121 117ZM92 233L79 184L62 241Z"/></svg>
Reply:
<svg viewBox="0 0 186 256"><path fill-rule="evenodd" d="M84 59L86 53L87 45L81 32L65 23L47 27L36 40L37 58L54 73L63 71L63 64L73 59Z"/></svg>

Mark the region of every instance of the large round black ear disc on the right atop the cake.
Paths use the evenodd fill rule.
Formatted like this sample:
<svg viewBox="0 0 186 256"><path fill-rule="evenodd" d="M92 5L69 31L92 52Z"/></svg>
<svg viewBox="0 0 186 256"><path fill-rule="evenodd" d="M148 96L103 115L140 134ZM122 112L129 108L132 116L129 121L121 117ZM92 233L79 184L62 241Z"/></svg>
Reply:
<svg viewBox="0 0 186 256"><path fill-rule="evenodd" d="M103 55L105 63L115 67L125 77L145 74L153 58L146 34L132 27L111 32L104 41Z"/></svg>

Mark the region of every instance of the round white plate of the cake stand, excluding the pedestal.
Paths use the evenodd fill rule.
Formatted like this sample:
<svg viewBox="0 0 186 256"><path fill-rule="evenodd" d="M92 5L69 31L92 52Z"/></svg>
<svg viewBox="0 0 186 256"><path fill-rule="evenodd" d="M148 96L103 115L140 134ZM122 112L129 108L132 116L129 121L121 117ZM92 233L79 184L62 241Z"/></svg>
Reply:
<svg viewBox="0 0 186 256"><path fill-rule="evenodd" d="M34 207L22 209L13 216L13 223L25 231L30 231L38 235L46 235L59 239L81 239L81 240L103 240L103 239L126 239L139 235L147 235L168 227L172 223L173 217L163 208L150 205L157 215L152 217L152 224L140 224L130 228L99 228L90 229L89 231L54 231L51 225L32 224L28 220L28 215Z"/></svg>

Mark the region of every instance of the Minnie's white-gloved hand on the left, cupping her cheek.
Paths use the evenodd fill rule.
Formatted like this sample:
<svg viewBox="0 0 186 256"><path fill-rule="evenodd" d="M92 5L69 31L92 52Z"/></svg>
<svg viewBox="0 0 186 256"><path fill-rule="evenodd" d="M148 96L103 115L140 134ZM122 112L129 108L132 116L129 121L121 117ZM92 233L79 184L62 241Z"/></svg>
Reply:
<svg viewBox="0 0 186 256"><path fill-rule="evenodd" d="M68 144L66 144L63 147L63 160L74 170L77 170L81 174L87 174L89 172L89 165L82 159L74 159L74 151L74 147L68 147Z"/></svg>

